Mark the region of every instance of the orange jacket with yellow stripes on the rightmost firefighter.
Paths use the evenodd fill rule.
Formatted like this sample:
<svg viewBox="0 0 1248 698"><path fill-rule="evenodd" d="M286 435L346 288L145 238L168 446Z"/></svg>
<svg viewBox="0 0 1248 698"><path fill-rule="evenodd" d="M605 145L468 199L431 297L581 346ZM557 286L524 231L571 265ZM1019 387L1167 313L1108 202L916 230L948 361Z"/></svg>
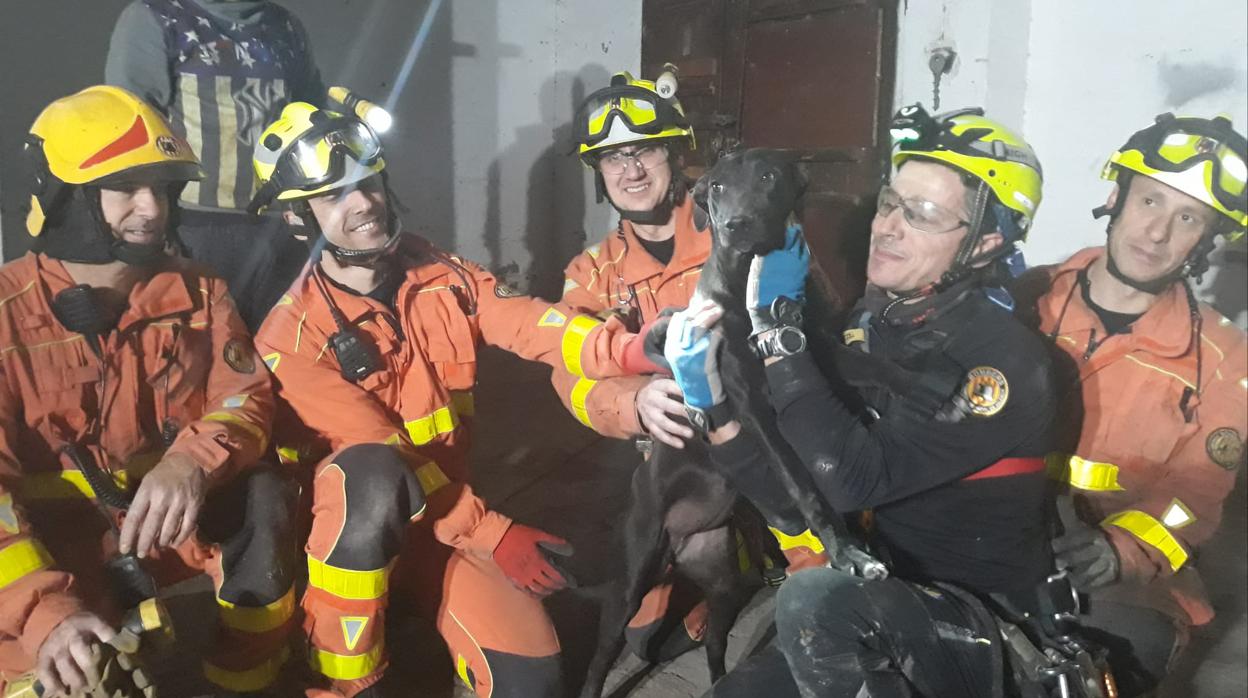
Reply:
<svg viewBox="0 0 1248 698"><path fill-rule="evenodd" d="M1122 561L1121 582L1093 596L1203 624L1213 608L1191 558L1217 531L1244 461L1248 343L1204 303L1197 336L1178 283L1131 332L1107 338L1077 281L1103 253L1083 250L1031 272L1042 281L1038 327L1078 370L1060 417L1073 453L1051 457L1051 472L1071 483L1080 516L1101 523Z"/></svg>

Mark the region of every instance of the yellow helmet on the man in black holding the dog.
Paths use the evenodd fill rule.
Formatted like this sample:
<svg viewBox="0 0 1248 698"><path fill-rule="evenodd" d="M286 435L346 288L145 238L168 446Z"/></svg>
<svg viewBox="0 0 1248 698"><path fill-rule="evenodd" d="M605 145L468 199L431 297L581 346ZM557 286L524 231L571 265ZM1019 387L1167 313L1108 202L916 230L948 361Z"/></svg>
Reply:
<svg viewBox="0 0 1248 698"><path fill-rule="evenodd" d="M917 156L978 179L1017 215L1018 240L1027 238L1042 197L1043 172L1022 136L983 116L982 109L930 116L917 104L897 111L891 134L895 166Z"/></svg>

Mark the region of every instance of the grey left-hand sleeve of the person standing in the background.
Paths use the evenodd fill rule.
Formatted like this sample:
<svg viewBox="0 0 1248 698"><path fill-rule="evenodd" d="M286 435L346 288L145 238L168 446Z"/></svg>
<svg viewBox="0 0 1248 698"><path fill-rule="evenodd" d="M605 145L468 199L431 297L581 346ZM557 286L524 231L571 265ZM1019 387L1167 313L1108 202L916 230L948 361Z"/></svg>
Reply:
<svg viewBox="0 0 1248 698"><path fill-rule="evenodd" d="M109 41L104 81L125 87L168 115L173 77L160 19L141 0L121 11Z"/></svg>

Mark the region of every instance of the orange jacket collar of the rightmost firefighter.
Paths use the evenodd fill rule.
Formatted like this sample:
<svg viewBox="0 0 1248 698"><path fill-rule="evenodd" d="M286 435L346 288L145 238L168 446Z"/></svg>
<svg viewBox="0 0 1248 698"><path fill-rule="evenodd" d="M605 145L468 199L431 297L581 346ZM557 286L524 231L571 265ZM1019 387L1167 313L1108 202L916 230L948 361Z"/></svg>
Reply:
<svg viewBox="0 0 1248 698"><path fill-rule="evenodd" d="M1057 268L1050 291L1042 302L1045 313L1056 320L1063 315L1062 306L1070 298L1070 306L1061 320L1060 333L1070 335L1096 328L1098 337L1104 336L1104 327L1101 326L1096 312L1087 307L1078 290L1075 288L1075 285L1078 283L1078 272L1087 268L1103 253L1104 247L1088 247L1062 262ZM1153 307L1148 308L1134 322L1129 337L1136 348L1171 358L1183 356L1191 348L1192 315L1188 312L1187 295L1179 283L1182 281L1163 291Z"/></svg>

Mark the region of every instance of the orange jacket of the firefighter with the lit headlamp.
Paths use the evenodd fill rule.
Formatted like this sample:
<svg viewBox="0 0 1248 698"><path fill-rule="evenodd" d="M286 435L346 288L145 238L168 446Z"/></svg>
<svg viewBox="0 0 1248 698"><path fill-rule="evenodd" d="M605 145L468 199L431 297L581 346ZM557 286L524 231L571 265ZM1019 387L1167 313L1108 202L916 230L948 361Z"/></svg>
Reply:
<svg viewBox="0 0 1248 698"><path fill-rule="evenodd" d="M397 253L406 270L397 312L334 286L317 265L261 326L256 346L283 403L280 455L314 466L357 443L394 446L431 494L426 518L438 541L488 557L510 519L487 511L467 484L478 342L575 375L609 377L622 375L613 357L633 335L618 320L604 323L562 303L519 296L419 237L404 235ZM358 385L342 377L329 348L338 327L313 275L382 357L382 368Z"/></svg>

